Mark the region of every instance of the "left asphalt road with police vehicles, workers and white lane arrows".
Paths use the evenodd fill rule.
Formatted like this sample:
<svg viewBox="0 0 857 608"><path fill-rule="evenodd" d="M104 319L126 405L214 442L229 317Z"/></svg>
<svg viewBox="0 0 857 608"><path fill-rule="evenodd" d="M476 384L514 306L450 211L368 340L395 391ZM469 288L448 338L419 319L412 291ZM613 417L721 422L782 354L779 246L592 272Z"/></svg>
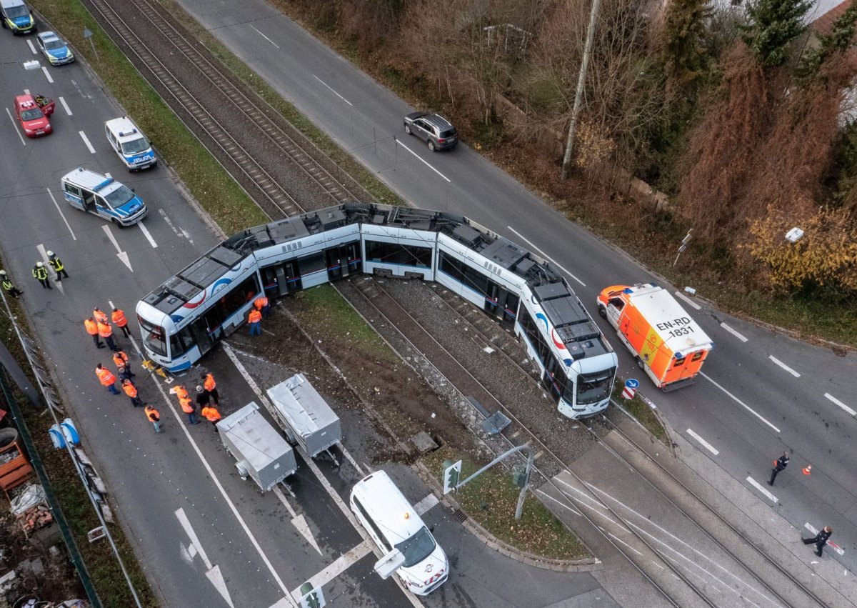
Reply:
<svg viewBox="0 0 857 608"><path fill-rule="evenodd" d="M302 462L291 479L296 497L260 496L255 485L238 477L211 426L188 427L175 399L165 394L169 387L142 377L129 340L117 339L135 361L141 397L158 407L164 432L156 435L124 394L108 394L99 385L95 365L112 368L112 363L111 353L96 350L84 331L93 306L110 310L115 304L133 315L139 298L218 242L219 235L165 166L138 174L125 170L103 135L105 120L123 111L84 66L21 69L21 62L34 58L31 42L0 36L0 89L8 102L25 89L57 101L54 133L25 140L10 116L0 118L0 247L9 276L25 291L24 305L87 454L163 604L289 606L297 587L314 580L324 582L328 605L420 605L393 579L375 575L377 557L343 511L351 483L374 459L360 434L345 442L362 463L359 470L349 463ZM157 141L157 134L149 135ZM147 219L119 230L71 208L60 178L77 166L110 173L135 188L149 208ZM50 291L30 274L42 250L57 252L70 275ZM266 388L283 379L285 370L267 370L266 376L256 363L251 376L224 350L205 364L226 395L225 415L258 400L250 381ZM195 377L180 381L192 390ZM352 425L359 427L360 421ZM378 441L373 439L365 443ZM407 467L390 470L413 503L428 495ZM425 520L437 524L437 538L455 564L450 581L427 605L603 597L590 574L530 568L486 551L446 509L427 504Z"/></svg>

